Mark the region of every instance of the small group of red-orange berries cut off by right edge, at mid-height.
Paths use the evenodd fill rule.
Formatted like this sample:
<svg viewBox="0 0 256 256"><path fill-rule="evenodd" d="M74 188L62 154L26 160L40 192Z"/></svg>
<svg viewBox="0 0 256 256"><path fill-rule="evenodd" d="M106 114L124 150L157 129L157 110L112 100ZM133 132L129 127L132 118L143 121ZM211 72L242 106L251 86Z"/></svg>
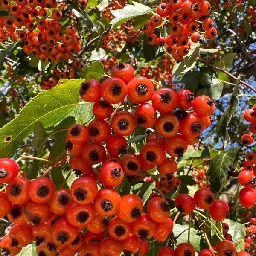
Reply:
<svg viewBox="0 0 256 256"><path fill-rule="evenodd" d="M253 143L253 134L256 134L256 104L253 108L247 109L244 111L244 120L250 123L250 132L251 134L244 134L241 137L242 143L245 145L250 145Z"/></svg>

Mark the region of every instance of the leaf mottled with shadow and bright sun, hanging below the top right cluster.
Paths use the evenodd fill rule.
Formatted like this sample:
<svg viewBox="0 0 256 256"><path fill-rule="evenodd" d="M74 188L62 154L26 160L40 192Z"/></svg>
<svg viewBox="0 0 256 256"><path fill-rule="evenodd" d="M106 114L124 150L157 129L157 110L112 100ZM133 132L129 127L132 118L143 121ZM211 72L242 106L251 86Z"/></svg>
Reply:
<svg viewBox="0 0 256 256"><path fill-rule="evenodd" d="M188 72L193 67L195 67L196 61L199 58L199 49L199 43L192 43L191 49L189 50L188 55L184 57L183 61L180 63L175 62L172 69L172 75L178 76L180 73Z"/></svg>

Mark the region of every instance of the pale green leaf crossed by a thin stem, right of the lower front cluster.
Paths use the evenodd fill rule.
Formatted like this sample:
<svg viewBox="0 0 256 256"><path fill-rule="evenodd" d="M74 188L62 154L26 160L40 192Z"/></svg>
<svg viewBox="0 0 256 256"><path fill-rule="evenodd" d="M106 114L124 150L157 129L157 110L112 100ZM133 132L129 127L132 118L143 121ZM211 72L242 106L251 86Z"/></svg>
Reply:
<svg viewBox="0 0 256 256"><path fill-rule="evenodd" d="M177 239L177 244L187 242L188 230L189 230L188 225L179 225L175 223L172 232L174 233L175 238ZM199 251L201 236L198 236L197 233L198 231L195 228L193 227L190 228L190 243L192 244L192 246L195 248L196 251Z"/></svg>

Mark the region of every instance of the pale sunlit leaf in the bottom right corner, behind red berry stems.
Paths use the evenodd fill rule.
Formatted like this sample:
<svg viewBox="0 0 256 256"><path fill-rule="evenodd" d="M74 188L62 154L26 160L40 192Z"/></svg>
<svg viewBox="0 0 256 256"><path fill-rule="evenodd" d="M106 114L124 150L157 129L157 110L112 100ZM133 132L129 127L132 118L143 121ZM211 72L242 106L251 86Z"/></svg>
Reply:
<svg viewBox="0 0 256 256"><path fill-rule="evenodd" d="M244 237L246 236L244 225L242 225L239 222L231 221L230 219L225 219L224 222L226 222L230 229L228 233L232 236L233 243L236 245L236 251L240 252L241 250L244 250Z"/></svg>

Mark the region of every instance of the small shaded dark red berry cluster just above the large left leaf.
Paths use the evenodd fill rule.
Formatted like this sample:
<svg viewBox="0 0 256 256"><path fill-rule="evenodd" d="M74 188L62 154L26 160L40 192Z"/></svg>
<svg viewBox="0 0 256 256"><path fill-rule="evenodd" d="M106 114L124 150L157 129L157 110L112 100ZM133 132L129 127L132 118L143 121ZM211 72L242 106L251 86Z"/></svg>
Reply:
<svg viewBox="0 0 256 256"><path fill-rule="evenodd" d="M77 71L82 70L83 64L81 61L73 59L71 63L62 64L52 70L52 76L40 82L40 87L43 90L49 90L58 84L59 79L75 79Z"/></svg>

